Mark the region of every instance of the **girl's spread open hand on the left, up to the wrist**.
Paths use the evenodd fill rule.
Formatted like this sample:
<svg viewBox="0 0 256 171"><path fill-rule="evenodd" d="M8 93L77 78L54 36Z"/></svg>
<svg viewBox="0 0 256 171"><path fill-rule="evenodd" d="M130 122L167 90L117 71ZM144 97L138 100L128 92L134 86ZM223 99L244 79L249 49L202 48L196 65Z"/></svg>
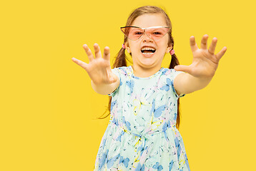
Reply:
<svg viewBox="0 0 256 171"><path fill-rule="evenodd" d="M74 61L74 63L77 63L77 65L81 66L85 69L85 71L87 71L89 77L92 79L92 82L95 85L111 84L116 82L117 76L112 72L110 66L109 47L106 46L104 48L103 58L99 45L97 43L94 43L95 58L92 54L92 51L86 44L83 45L83 48L87 53L89 63L84 63L77 58L72 58L72 61Z"/></svg>

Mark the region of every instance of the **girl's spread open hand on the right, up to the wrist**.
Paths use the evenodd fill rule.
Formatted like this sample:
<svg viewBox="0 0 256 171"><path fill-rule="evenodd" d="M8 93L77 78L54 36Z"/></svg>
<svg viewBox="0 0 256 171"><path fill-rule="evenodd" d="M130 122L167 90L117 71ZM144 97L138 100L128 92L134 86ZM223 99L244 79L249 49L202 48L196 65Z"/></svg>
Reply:
<svg viewBox="0 0 256 171"><path fill-rule="evenodd" d="M215 55L215 47L217 45L217 38L212 38L212 43L207 49L208 35L202 37L201 48L198 48L195 42L195 37L190 37L190 47L193 54L192 64L189 66L178 65L174 69L176 71L184 71L197 78L212 78L217 70L220 58L227 51L227 47Z"/></svg>

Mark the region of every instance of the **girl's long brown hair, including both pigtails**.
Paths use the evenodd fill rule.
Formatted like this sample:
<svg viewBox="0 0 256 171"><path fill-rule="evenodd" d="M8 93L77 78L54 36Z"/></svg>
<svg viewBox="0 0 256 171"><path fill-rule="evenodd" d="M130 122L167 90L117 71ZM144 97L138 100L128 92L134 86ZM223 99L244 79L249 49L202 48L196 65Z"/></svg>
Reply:
<svg viewBox="0 0 256 171"><path fill-rule="evenodd" d="M132 26L132 23L134 22L134 20L138 16L142 16L143 14L163 14L164 15L164 17L166 19L166 22L167 22L167 26L169 26L169 28L170 28L170 31L168 31L168 35L169 35L168 46L172 46L172 49L173 49L174 39L172 37L172 23L169 19L169 16L166 14L166 12L163 9L161 9L157 6L141 6L137 9L135 9L129 15L129 17L127 19L126 26ZM127 42L127 36L124 36L124 43L125 42ZM127 66L127 60L128 60L128 58L125 55L125 49L121 48L120 51L117 53L117 56L114 60L114 64L113 64L112 68ZM169 64L169 69L174 68L174 66L177 66L177 65L179 65L178 58L175 54L173 54L172 55L172 60ZM110 115L111 100L112 100L112 97L109 96L109 105L108 105L107 110L105 111L105 113L108 113L108 115ZM177 100L177 123L176 123L176 128L177 129L179 129L179 123L180 123L179 115L180 115L180 112L179 112L179 98L178 98L178 100ZM107 116L105 116L104 118L107 118ZM104 118L98 118L98 119L104 119Z"/></svg>

